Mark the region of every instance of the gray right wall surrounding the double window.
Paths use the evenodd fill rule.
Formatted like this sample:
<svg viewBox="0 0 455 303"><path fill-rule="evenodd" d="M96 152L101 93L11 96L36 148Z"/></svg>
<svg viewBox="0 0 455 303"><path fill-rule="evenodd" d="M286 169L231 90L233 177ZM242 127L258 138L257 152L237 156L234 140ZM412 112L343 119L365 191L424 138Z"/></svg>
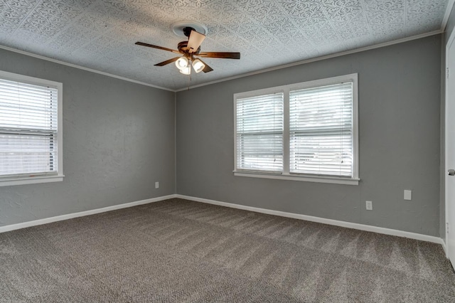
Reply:
<svg viewBox="0 0 455 303"><path fill-rule="evenodd" d="M178 92L177 193L439 236L440 67L438 35ZM349 73L359 77L358 186L233 176L235 92Z"/></svg>

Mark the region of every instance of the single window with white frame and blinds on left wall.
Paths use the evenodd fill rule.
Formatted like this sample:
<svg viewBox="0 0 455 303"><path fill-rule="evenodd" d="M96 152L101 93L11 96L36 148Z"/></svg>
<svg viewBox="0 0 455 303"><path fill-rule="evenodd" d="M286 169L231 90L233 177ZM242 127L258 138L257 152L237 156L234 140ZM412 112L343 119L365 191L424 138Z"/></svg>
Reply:
<svg viewBox="0 0 455 303"><path fill-rule="evenodd" d="M0 186L62 181L62 87L0 71Z"/></svg>

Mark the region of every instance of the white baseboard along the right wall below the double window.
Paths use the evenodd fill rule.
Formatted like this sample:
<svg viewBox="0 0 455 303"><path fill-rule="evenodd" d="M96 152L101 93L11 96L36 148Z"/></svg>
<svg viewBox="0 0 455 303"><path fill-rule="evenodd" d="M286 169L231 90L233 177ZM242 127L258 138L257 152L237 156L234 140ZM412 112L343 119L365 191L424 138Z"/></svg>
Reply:
<svg viewBox="0 0 455 303"><path fill-rule="evenodd" d="M282 216L282 217L287 217L287 218L294 218L294 219L306 220L306 221L311 221L311 222L324 223L324 224L329 224L329 225L336 225L336 226L341 226L341 227L344 227L344 228L353 228L353 229L358 229L358 230L365 230L365 231L370 231L370 232L373 232L373 233L382 233L382 234L385 234L385 235L396 235L396 236L402 237L402 238L410 238L410 239L415 239L415 240L422 240L422 241L427 241L427 242L441 244L442 248L444 248L444 251L445 251L444 240L442 240L441 238L438 238L438 237L434 237L432 235L422 235L422 234L419 234L419 233L410 233L408 231L395 230L395 229L390 229L390 228L381 228L381 227L373 226L373 225L350 223L350 222L346 222L346 221L319 218L319 217L314 217L314 216L306 216L306 215L301 215L299 213L287 213L287 212L284 212L284 211L272 211L272 210L266 209L266 208L257 208L257 207L252 207L252 206L243 206L243 205L240 205L240 204L220 202L220 201L209 200L209 199L205 199L205 198L197 198L197 197L184 196L184 195L179 195L179 194L176 194L176 198L182 198L182 199L186 199L186 200L192 200L192 201L208 203L208 204L214 204L214 205L219 205L219 206L226 206L226 207L230 207L230 208L238 208L238 209L243 209L245 211L255 211L256 213L267 213L268 215Z"/></svg>

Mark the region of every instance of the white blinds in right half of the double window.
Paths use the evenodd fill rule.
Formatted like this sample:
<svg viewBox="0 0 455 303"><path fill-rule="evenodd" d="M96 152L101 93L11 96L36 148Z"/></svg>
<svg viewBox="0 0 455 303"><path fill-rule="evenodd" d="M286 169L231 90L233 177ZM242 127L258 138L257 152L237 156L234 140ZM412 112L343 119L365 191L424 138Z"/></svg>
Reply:
<svg viewBox="0 0 455 303"><path fill-rule="evenodd" d="M353 83L289 92L291 173L353 176Z"/></svg>

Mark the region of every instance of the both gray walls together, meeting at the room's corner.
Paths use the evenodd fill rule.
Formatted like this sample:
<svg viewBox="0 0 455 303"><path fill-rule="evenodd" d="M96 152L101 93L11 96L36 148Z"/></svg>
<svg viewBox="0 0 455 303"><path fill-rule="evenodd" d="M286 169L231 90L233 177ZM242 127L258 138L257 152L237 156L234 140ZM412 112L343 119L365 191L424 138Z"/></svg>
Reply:
<svg viewBox="0 0 455 303"><path fill-rule="evenodd" d="M177 191L442 237L444 42L432 36L178 92L177 129L173 92L0 50L0 70L63 83L65 174L63 182L0 187L0 226ZM235 92L348 73L359 74L359 186L233 176Z"/></svg>

